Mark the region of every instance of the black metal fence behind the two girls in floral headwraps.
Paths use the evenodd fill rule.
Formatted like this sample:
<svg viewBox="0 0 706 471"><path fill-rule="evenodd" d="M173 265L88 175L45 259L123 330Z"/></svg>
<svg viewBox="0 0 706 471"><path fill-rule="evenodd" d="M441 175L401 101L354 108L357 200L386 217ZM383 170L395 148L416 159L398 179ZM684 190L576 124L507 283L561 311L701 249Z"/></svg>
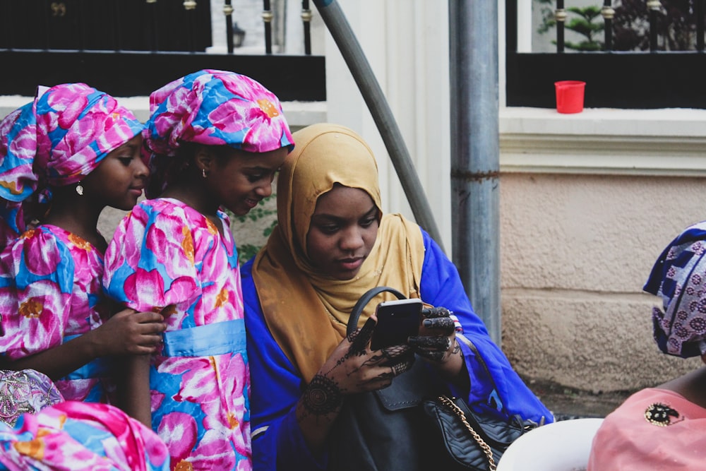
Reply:
<svg viewBox="0 0 706 471"><path fill-rule="evenodd" d="M148 95L186 73L244 73L280 100L325 100L325 61L311 55L309 1L301 2L305 53L273 54L273 18L263 1L262 54L237 54L242 31L222 3L227 52L212 54L209 0L0 0L1 95L82 81L116 96Z"/></svg>

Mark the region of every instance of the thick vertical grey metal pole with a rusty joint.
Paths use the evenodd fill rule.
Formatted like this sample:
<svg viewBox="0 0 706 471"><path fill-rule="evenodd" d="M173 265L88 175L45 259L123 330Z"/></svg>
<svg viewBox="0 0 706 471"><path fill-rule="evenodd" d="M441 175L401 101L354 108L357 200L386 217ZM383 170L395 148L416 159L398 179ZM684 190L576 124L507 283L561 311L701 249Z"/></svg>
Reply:
<svg viewBox="0 0 706 471"><path fill-rule="evenodd" d="M448 6L453 261L500 345L498 2Z"/></svg>

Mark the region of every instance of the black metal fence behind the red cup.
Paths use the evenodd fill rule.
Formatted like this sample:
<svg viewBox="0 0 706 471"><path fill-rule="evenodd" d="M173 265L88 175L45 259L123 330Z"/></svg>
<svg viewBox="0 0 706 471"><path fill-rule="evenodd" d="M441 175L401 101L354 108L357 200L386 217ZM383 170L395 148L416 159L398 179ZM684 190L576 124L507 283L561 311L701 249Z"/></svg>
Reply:
<svg viewBox="0 0 706 471"><path fill-rule="evenodd" d="M545 23L556 28L556 52L537 53L517 52L519 1L505 1L508 106L554 107L554 82L580 80L585 107L706 109L705 0L557 0ZM585 40L565 40L566 29Z"/></svg>

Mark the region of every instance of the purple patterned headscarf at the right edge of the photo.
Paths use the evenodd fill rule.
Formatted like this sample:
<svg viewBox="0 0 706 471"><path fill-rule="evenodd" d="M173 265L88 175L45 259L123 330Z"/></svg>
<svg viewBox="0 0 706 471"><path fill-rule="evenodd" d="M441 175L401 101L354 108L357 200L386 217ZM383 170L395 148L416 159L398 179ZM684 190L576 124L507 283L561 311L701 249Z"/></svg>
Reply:
<svg viewBox="0 0 706 471"><path fill-rule="evenodd" d="M686 228L654 263L642 289L662 297L652 309L654 340L678 357L706 353L706 221Z"/></svg>

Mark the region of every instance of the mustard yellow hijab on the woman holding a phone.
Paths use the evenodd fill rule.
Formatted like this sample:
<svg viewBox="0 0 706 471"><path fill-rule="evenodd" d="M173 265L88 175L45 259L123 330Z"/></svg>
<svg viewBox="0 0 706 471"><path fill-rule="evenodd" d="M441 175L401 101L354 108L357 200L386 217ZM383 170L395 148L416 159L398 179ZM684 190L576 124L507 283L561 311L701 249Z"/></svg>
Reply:
<svg viewBox="0 0 706 471"><path fill-rule="evenodd" d="M389 286L419 297L424 242L414 222L382 216L377 163L354 131L314 124L294 133L294 142L277 179L277 227L256 256L253 280L270 332L309 382L345 337L350 311L367 290ZM352 280L319 273L306 254L316 201L336 183L366 191L380 210L378 237ZM387 299L394 297L369 303L359 326Z"/></svg>

